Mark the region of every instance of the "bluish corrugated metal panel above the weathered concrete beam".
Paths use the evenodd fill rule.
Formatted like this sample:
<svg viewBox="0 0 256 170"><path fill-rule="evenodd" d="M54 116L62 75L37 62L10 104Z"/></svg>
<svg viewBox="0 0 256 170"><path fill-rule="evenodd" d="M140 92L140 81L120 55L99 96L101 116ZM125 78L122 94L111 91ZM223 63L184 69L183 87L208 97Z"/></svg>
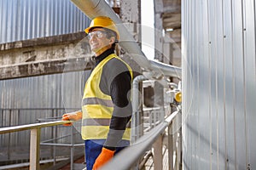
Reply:
<svg viewBox="0 0 256 170"><path fill-rule="evenodd" d="M90 20L70 0L1 0L0 43L83 31Z"/></svg>

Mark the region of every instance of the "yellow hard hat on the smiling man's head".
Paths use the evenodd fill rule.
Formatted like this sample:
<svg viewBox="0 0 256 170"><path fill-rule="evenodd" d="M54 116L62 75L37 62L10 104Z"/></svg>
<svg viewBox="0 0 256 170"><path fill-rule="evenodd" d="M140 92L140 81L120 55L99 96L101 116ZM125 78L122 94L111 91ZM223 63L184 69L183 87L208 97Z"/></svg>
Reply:
<svg viewBox="0 0 256 170"><path fill-rule="evenodd" d="M115 23L113 20L111 20L107 16L98 16L95 19L91 20L90 26L86 28L84 31L86 34L89 33L91 28L96 28L96 27L102 27L102 28L107 28L109 30L112 30L116 33L117 40L119 40L119 31L118 28L115 26Z"/></svg>

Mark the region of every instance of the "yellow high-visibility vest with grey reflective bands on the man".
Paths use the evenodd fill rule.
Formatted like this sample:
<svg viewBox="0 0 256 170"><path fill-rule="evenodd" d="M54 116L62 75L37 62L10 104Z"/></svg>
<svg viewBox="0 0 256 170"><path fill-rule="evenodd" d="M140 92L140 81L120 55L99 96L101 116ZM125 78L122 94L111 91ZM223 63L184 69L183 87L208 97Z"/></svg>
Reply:
<svg viewBox="0 0 256 170"><path fill-rule="evenodd" d="M90 77L85 83L84 97L82 101L82 138L86 139L107 139L109 124L113 113L113 102L110 95L103 94L100 88L103 66L109 59L119 59L116 54L110 54L103 59L91 72ZM122 59L122 62L125 63ZM127 65L131 74L131 67ZM130 140L131 123L128 123L122 139Z"/></svg>

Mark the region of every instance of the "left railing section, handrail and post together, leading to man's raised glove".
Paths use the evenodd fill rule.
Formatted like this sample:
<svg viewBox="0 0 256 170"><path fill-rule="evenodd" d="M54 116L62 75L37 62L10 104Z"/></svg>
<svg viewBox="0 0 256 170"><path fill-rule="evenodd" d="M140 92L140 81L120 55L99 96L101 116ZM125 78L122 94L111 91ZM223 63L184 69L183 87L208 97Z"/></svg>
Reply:
<svg viewBox="0 0 256 170"><path fill-rule="evenodd" d="M41 122L28 125L20 125L15 127L3 127L0 128L0 134L14 133L24 130L31 130L30 133L30 167L29 169L40 169L40 134L42 127L52 127L56 125L62 125L70 121L55 121L55 122Z"/></svg>

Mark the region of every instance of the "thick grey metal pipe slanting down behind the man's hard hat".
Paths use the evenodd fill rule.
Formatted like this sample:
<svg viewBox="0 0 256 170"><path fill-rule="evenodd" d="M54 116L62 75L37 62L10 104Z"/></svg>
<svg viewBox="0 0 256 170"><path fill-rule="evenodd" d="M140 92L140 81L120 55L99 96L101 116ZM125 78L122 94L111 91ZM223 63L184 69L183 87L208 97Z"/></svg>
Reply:
<svg viewBox="0 0 256 170"><path fill-rule="evenodd" d="M131 58L137 62L138 65L143 67L144 71L154 71L166 77L179 77L182 76L181 68L173 65L166 65L164 63L148 60L145 54L131 33L126 29L118 15L113 12L113 9L105 2L105 0L71 0L80 10L86 14L90 19L96 16L104 15L110 17L118 26L120 40L119 45L130 54Z"/></svg>

